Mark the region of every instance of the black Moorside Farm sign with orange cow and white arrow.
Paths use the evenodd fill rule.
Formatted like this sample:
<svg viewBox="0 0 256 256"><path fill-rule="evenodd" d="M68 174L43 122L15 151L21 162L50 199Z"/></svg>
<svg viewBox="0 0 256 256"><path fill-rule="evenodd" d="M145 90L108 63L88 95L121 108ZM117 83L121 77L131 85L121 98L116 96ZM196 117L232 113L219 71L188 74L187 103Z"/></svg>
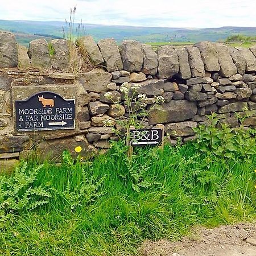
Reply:
<svg viewBox="0 0 256 256"><path fill-rule="evenodd" d="M15 101L15 114L18 131L75 129L75 100L64 100L53 92Z"/></svg>

